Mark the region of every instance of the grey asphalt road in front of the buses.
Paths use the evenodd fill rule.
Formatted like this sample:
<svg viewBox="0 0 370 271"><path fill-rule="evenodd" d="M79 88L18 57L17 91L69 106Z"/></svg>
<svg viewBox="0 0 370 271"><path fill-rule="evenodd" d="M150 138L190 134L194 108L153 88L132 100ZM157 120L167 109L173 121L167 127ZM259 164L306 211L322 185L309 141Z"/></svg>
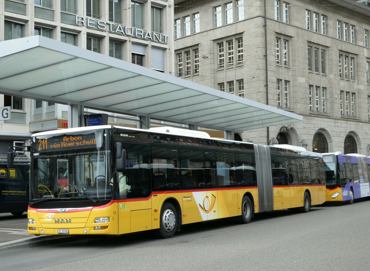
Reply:
<svg viewBox="0 0 370 271"><path fill-rule="evenodd" d="M0 253L1 270L370 270L370 200L153 232L72 237ZM1 226L2 227L2 226Z"/></svg>

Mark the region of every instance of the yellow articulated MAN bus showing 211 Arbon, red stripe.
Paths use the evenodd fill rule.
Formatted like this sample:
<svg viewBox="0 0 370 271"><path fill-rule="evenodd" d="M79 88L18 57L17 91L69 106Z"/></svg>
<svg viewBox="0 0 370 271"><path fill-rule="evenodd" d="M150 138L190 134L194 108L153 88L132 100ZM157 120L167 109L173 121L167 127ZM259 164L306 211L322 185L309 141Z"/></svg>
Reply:
<svg viewBox="0 0 370 271"><path fill-rule="evenodd" d="M29 234L125 234L326 200L322 155L204 132L90 126L31 138ZM166 131L165 130L165 131ZM182 130L182 131L181 131Z"/></svg>

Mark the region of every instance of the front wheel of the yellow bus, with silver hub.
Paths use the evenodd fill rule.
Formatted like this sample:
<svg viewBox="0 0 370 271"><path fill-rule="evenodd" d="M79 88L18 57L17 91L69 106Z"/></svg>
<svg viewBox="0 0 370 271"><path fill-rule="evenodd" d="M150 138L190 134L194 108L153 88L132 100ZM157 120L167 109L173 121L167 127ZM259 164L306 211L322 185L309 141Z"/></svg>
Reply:
<svg viewBox="0 0 370 271"><path fill-rule="evenodd" d="M175 207L166 202L161 209L161 220L159 221L159 237L169 238L174 236L177 228L177 212Z"/></svg>

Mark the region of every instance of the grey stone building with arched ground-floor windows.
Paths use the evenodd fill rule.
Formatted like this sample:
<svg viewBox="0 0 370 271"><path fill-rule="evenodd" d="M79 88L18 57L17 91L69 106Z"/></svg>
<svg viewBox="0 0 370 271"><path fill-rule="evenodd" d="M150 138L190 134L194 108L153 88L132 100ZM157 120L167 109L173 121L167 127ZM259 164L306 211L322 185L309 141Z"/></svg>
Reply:
<svg viewBox="0 0 370 271"><path fill-rule="evenodd" d="M367 1L175 1L174 76L303 116L242 134L370 155Z"/></svg>

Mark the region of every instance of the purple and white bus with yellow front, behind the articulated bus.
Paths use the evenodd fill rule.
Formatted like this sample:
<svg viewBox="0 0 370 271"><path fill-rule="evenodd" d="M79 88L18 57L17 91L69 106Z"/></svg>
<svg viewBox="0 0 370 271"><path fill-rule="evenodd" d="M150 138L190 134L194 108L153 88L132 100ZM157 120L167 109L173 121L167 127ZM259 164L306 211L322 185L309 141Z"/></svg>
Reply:
<svg viewBox="0 0 370 271"><path fill-rule="evenodd" d="M370 157L341 152L323 153L327 201L349 201L370 196Z"/></svg>

